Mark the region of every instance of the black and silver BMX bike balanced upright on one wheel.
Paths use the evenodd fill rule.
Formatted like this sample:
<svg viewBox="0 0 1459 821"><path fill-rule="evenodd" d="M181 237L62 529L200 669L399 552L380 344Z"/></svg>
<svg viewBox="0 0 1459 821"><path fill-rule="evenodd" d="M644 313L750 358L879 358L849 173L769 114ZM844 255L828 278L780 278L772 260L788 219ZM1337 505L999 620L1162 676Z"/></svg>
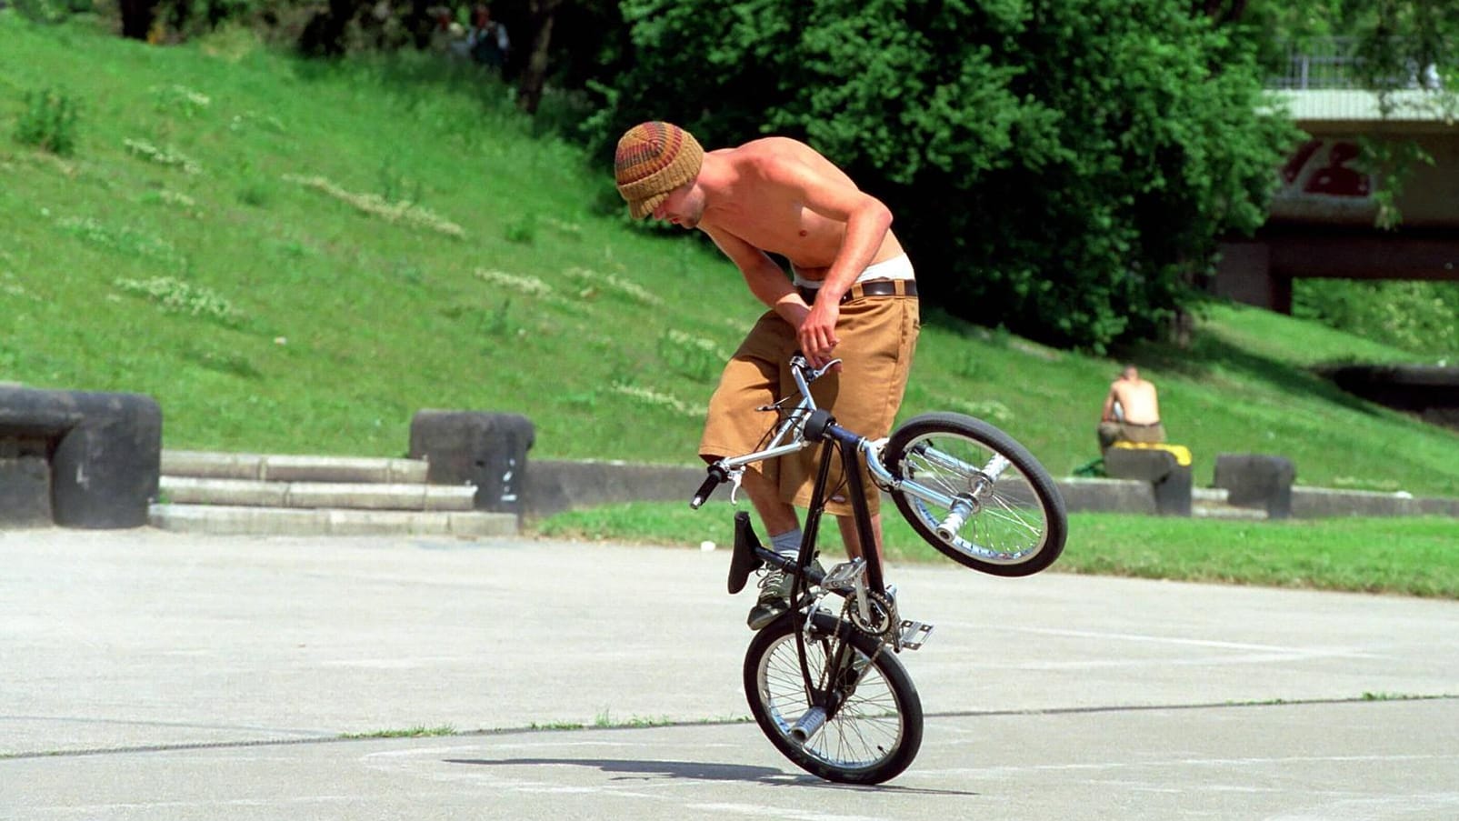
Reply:
<svg viewBox="0 0 1459 821"><path fill-rule="evenodd" d="M744 658L744 691L756 723L792 763L821 779L875 785L907 769L922 744L922 701L897 653L919 649L932 626L903 620L894 589L870 545L871 513L862 493L865 464L912 529L975 570L1029 576L1064 550L1064 499L1043 465L992 424L956 413L913 417L886 439L865 439L816 407L810 385L835 362L811 367L791 357L800 395L760 410L779 420L765 448L716 461L694 493L700 507L721 483L738 490L750 464L821 451L800 553L782 557L760 544L747 512L735 513L730 594L750 573L776 567L791 576L791 607L754 634ZM832 458L845 465L846 494L861 557L821 570L816 540L827 500ZM839 596L840 607L826 607ZM890 650L890 652L889 652Z"/></svg>

